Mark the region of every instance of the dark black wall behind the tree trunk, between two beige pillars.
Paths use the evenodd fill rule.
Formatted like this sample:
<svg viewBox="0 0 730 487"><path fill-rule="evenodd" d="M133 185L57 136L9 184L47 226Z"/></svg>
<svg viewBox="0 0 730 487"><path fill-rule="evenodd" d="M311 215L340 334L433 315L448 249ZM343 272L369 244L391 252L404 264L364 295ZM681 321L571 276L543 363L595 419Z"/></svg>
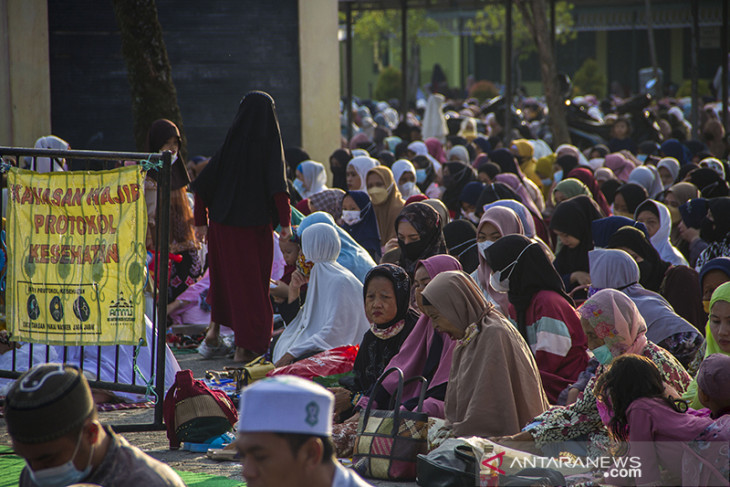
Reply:
<svg viewBox="0 0 730 487"><path fill-rule="evenodd" d="M301 144L297 0L156 3L190 155L217 150L250 90L276 100L284 145ZM134 149L111 3L48 0L48 24L53 132L78 149Z"/></svg>

